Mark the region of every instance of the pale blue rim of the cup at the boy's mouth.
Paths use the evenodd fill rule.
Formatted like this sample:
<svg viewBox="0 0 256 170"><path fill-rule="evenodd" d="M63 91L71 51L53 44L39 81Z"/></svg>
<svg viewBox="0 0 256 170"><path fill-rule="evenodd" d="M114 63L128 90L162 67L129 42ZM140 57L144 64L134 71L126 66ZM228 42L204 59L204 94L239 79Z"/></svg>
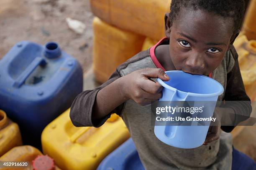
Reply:
<svg viewBox="0 0 256 170"><path fill-rule="evenodd" d="M215 92L215 93L207 93L207 94L194 93L194 92L185 92L185 93L187 93L187 95L193 95L193 96L195 96L195 97L213 97L213 96L219 96L219 95L221 95L221 94L224 92L224 88L223 88L223 86L220 84L220 82L214 80L213 78L207 77L207 76L205 76L205 75L191 75L191 74L186 73L186 72L181 71L181 70L165 71L165 73L168 73L168 72L184 73L184 74L188 74L189 76L200 76L200 77L203 77L203 78L205 78L205 79L208 79L208 80L210 80L210 81L212 81L212 82L215 82L216 85L218 85L218 87L221 89L221 90L218 91L218 92ZM171 78L171 77L170 77L170 78ZM174 88L174 87L172 87L172 86L167 85L167 84L166 84L163 80L161 80L160 78L157 78L157 81L158 81L163 87L165 87L166 89L173 90L174 92L176 92L176 91L184 92L184 91L182 91L182 90L178 90L178 89L176 89L176 88Z"/></svg>

